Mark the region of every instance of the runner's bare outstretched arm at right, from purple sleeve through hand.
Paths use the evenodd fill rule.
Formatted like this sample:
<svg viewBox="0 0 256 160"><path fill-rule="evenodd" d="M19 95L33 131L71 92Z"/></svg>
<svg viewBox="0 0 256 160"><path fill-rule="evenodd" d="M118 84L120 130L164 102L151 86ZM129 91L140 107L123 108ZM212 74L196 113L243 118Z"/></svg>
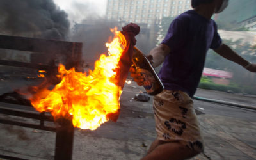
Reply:
<svg viewBox="0 0 256 160"><path fill-rule="evenodd" d="M218 49L214 49L214 51L220 54L220 56L223 56L223 58L233 61L251 72L256 72L256 64L251 64L249 61L244 60L244 58L239 56L239 54L228 47L228 45L221 44L220 47L218 47Z"/></svg>

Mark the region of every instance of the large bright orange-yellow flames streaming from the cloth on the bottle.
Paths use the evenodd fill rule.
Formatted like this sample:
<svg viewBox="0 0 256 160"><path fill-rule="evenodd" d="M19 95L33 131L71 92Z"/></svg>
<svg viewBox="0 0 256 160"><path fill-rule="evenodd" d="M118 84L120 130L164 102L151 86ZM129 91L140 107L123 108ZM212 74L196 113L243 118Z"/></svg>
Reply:
<svg viewBox="0 0 256 160"><path fill-rule="evenodd" d="M124 35L111 29L113 41L106 43L108 55L102 54L95 69L88 73L66 70L59 65L61 82L52 90L33 87L35 94L29 100L37 111L51 112L54 118L72 117L74 127L95 130L120 110L121 86L116 81L118 62L125 47Z"/></svg>

